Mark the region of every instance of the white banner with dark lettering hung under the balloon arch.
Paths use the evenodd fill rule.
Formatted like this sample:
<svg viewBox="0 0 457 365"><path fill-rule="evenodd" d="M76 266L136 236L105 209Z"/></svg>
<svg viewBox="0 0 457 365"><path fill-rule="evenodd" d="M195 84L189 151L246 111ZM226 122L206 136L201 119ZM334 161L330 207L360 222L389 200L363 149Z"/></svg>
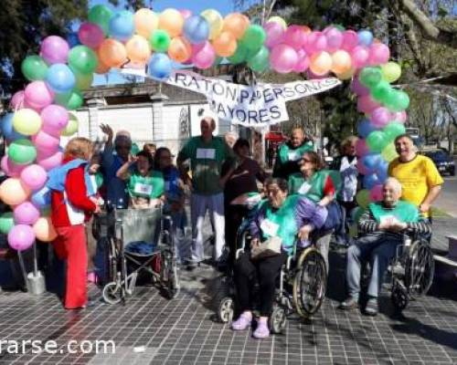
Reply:
<svg viewBox="0 0 457 365"><path fill-rule="evenodd" d="M148 77L144 70L139 69L123 68L122 73ZM319 78L286 84L259 83L250 87L207 78L188 70L175 70L164 82L204 94L219 119L245 127L263 127L289 120L286 101L308 97L341 84L338 78Z"/></svg>

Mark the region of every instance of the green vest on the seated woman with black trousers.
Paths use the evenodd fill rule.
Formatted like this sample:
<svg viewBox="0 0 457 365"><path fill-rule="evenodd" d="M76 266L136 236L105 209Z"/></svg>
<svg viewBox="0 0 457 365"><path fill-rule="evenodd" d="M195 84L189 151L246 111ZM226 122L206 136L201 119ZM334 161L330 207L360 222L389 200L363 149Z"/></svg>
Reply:
<svg viewBox="0 0 457 365"><path fill-rule="evenodd" d="M299 195L289 195L282 203L280 209L273 209L268 201L262 202L260 207L265 211L265 221L268 220L273 226L277 224L276 236L282 239L282 248L288 253L292 252L298 234L298 227L295 221L295 206L299 200ZM265 222L262 224L265 224ZM261 241L264 241L272 235L265 232L265 229L261 229L262 224L260 224L260 233Z"/></svg>

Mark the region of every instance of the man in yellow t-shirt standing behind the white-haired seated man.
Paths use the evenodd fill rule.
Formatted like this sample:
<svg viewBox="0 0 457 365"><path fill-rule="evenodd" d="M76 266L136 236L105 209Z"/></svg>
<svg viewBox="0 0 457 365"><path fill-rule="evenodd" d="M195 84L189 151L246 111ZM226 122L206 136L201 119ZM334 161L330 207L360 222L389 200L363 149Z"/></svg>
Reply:
<svg viewBox="0 0 457 365"><path fill-rule="evenodd" d="M408 134L395 139L399 157L388 165L388 174L403 187L401 198L417 205L425 217L430 217L430 205L441 192L444 183L440 172L430 158L416 152Z"/></svg>

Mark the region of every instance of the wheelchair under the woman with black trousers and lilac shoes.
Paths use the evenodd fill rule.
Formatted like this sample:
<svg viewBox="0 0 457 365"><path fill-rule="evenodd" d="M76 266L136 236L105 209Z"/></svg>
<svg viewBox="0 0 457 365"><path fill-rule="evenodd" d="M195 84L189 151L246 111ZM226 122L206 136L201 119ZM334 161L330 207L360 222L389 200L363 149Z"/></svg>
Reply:
<svg viewBox="0 0 457 365"><path fill-rule="evenodd" d="M249 246L249 224L239 227L236 257ZM231 322L236 313L236 290L233 268L222 278L223 290L214 297L216 316L219 322ZM296 312L301 318L311 318L324 303L327 271L324 257L315 247L315 243L301 248L294 245L293 254L282 266L275 293L275 300L269 328L271 333L281 333L286 319ZM254 296L255 297L255 296Z"/></svg>

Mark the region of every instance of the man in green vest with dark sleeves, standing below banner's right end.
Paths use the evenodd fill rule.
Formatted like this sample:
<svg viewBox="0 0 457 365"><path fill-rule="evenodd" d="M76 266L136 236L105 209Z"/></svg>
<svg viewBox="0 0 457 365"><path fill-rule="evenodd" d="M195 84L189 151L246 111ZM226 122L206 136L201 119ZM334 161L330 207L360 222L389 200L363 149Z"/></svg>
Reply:
<svg viewBox="0 0 457 365"><path fill-rule="evenodd" d="M299 162L304 152L314 151L313 141L307 140L302 128L292 130L291 140L278 149L274 162L273 177L288 180L292 173L300 172Z"/></svg>

